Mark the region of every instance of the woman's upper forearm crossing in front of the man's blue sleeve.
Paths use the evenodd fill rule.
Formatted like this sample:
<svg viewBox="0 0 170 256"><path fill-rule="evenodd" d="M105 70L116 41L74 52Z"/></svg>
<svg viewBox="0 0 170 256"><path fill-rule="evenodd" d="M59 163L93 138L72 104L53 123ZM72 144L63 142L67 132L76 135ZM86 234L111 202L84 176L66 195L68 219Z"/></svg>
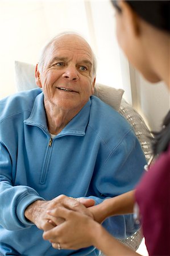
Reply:
<svg viewBox="0 0 170 256"><path fill-rule="evenodd" d="M103 203L90 208L94 220L101 223L106 218L119 214L129 214L133 212L135 203L135 191L129 191L119 196L106 199Z"/></svg>

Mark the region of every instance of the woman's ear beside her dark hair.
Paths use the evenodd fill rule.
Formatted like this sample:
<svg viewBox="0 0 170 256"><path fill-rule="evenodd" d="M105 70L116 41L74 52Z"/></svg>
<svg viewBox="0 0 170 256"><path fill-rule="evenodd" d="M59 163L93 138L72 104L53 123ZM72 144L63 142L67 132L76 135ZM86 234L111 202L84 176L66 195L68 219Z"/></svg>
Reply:
<svg viewBox="0 0 170 256"><path fill-rule="evenodd" d="M132 10L130 5L126 1L118 1L118 5L121 8L122 19L124 20L124 28L128 32L129 36L140 34L140 18Z"/></svg>

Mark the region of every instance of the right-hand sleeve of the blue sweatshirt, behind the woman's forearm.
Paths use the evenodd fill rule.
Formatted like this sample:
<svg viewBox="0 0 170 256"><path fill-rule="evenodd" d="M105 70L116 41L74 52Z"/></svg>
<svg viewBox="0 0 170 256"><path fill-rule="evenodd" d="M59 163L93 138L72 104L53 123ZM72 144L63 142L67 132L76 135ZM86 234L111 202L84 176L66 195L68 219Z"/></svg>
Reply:
<svg viewBox="0 0 170 256"><path fill-rule="evenodd" d="M96 170L91 195L97 196L89 195L89 198L100 204L106 198L131 191L143 175L145 164L146 158L140 143L131 130ZM107 218L103 226L117 238L131 236L139 228L132 214Z"/></svg>

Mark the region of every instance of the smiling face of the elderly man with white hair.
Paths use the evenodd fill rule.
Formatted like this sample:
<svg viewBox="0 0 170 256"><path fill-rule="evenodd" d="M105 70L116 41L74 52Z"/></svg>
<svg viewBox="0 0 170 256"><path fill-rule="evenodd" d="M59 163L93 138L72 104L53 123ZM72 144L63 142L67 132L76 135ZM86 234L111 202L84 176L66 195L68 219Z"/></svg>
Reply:
<svg viewBox="0 0 170 256"><path fill-rule="evenodd" d="M93 94L93 57L77 35L60 36L47 49L38 85L52 108L79 112Z"/></svg>

